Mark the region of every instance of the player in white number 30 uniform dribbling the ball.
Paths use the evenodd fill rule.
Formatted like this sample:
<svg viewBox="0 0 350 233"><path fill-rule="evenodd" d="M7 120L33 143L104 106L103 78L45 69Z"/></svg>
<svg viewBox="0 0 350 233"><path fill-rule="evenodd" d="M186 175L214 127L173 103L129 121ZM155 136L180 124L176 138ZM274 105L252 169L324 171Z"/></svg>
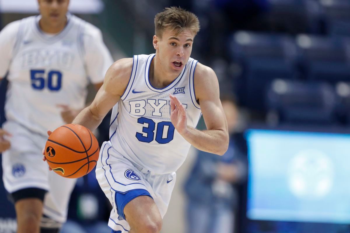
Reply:
<svg viewBox="0 0 350 233"><path fill-rule="evenodd" d="M190 146L220 155L228 148L217 77L190 58L199 27L196 15L181 8L158 13L156 53L116 61L73 121L94 130L113 108L96 177L113 206L109 226L116 233L160 232ZM195 129L201 113L205 131Z"/></svg>

